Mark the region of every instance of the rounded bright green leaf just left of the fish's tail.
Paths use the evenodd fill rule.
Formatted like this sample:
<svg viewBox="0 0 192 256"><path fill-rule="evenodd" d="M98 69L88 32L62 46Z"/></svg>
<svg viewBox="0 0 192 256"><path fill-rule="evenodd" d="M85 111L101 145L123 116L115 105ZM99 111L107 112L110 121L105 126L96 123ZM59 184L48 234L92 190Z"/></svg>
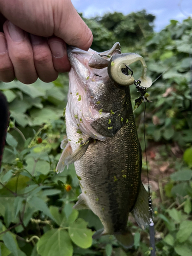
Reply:
<svg viewBox="0 0 192 256"><path fill-rule="evenodd" d="M71 240L81 248L88 248L92 245L93 231L87 228L87 222L83 219L77 219L69 227Z"/></svg>

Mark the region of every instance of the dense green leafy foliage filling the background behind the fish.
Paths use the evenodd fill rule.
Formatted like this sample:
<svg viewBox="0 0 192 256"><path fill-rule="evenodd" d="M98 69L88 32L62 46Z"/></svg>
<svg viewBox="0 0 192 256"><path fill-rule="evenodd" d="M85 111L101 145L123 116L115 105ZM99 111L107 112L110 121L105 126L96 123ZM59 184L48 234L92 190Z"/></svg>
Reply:
<svg viewBox="0 0 192 256"><path fill-rule="evenodd" d="M82 15L81 15L82 16ZM120 41L122 52L144 57L148 75L155 80L148 90L146 139L152 198L155 209L157 255L189 256L192 251L192 20L171 20L153 32L154 16L144 10L123 15L108 13L84 19L91 28L97 51ZM141 67L133 65L135 79ZM148 232L134 220L134 246L122 248L113 236L92 241L102 228L90 210L72 207L80 194L74 166L61 174L55 167L66 137L63 108L67 103L68 76L52 83L37 80L0 83L10 108L9 132L0 173L0 255L79 256L147 255ZM131 87L132 99L138 97ZM134 112L143 147L143 104ZM146 184L143 158L142 181Z"/></svg>

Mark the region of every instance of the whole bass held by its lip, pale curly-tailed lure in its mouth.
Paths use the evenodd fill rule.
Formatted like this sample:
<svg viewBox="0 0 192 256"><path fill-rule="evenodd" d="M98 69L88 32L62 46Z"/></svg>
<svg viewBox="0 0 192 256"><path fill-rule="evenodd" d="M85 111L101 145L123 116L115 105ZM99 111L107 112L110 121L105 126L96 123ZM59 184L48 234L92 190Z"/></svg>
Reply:
<svg viewBox="0 0 192 256"><path fill-rule="evenodd" d="M148 194L141 182L142 155L133 115L129 65L141 61L139 78L150 87L146 64L136 53L121 53L120 44L98 53L69 46L67 140L56 167L60 173L74 162L82 193L75 209L91 209L103 229L93 238L114 234L126 248L134 243L129 214L144 229L150 219Z"/></svg>

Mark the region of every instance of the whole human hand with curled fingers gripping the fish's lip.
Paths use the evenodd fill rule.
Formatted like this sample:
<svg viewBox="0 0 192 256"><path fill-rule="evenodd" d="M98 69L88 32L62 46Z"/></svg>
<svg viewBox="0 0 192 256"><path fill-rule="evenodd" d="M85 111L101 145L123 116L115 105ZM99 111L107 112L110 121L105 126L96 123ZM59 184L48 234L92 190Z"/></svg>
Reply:
<svg viewBox="0 0 192 256"><path fill-rule="evenodd" d="M91 30L70 0L0 0L0 80L54 81L70 70L66 43L88 50ZM30 33L30 34L29 34Z"/></svg>

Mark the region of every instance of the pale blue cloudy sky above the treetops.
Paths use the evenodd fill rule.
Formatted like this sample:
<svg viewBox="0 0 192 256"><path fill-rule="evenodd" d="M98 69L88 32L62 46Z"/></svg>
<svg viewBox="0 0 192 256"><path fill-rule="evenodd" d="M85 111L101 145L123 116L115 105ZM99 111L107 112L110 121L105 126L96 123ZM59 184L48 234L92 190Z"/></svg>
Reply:
<svg viewBox="0 0 192 256"><path fill-rule="evenodd" d="M155 28L159 32L169 24L170 19L180 22L192 18L192 0L71 0L78 12L86 18L107 12L122 12L124 15L143 9L154 14Z"/></svg>

